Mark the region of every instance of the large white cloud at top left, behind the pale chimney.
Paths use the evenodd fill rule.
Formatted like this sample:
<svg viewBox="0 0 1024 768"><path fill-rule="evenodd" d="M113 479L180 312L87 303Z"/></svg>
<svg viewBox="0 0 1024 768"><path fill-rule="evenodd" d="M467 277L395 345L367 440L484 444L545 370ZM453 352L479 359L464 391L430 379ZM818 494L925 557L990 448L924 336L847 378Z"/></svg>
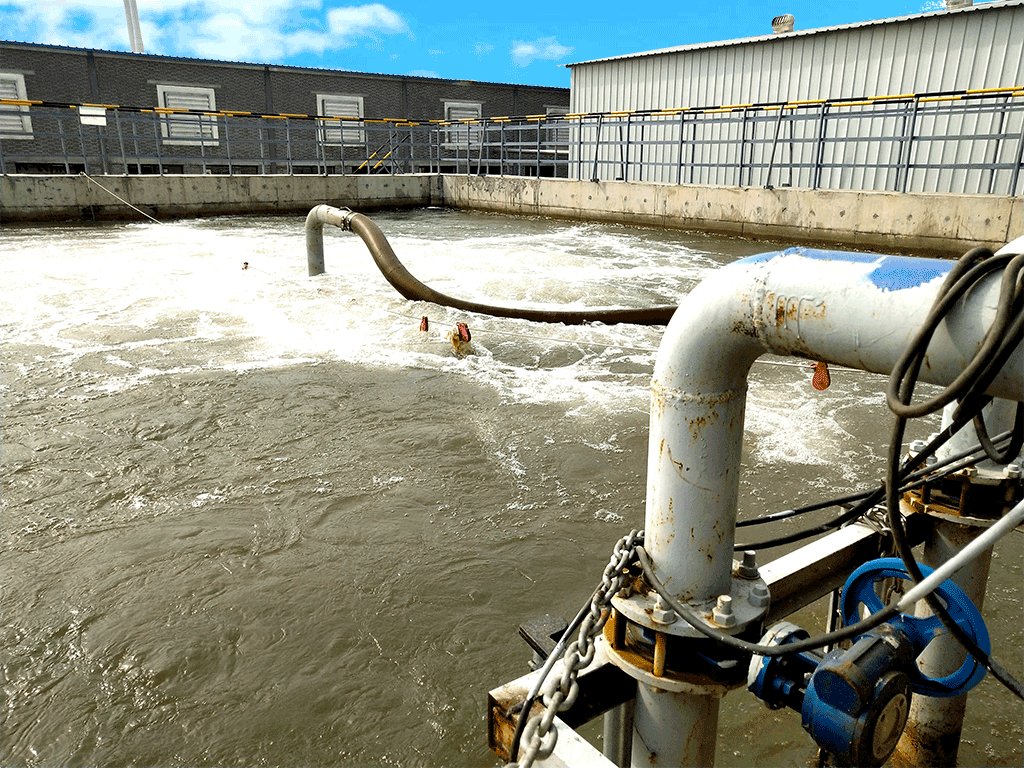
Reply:
<svg viewBox="0 0 1024 768"><path fill-rule="evenodd" d="M123 0L2 0L4 37L26 42L126 50ZM381 3L332 8L324 0L137 0L147 53L243 61L323 54L409 33ZM411 33L410 33L411 34Z"/></svg>

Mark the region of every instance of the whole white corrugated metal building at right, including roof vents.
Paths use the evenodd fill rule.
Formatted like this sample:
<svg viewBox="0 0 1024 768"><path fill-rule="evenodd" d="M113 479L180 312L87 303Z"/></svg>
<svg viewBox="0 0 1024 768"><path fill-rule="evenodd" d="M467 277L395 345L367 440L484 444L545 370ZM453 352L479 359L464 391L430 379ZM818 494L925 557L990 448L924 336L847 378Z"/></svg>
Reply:
<svg viewBox="0 0 1024 768"><path fill-rule="evenodd" d="M792 18L792 17L791 17ZM766 32L771 20L765 18ZM799 24L799 19L797 19ZM858 99L896 94L938 94L973 89L1016 88L1024 90L1024 0L1002 0L959 8L947 8L914 15L722 42L684 45L610 58L581 61L571 68L570 113L687 110L719 105L765 105L821 99ZM824 177L810 178L808 162L795 164L791 183L795 186L843 188L893 188L928 191L947 188L948 179L938 182L940 173L961 173L965 191L986 191L986 183L1001 190L1006 178L969 178L973 171L930 169L928 166L972 163L982 158L1012 164L1019 142L1007 140L972 141L965 135L1016 135L1024 122L1020 109L1021 93L1007 93L999 98L1008 109L972 111L962 114L914 114L909 130L921 135L947 135L947 141L932 140L915 147L913 165L921 170L899 181L893 167L898 165L904 144L899 141L861 141L856 157L847 152L850 168L844 169L847 131L862 131L869 126L879 137L900 135L907 130L906 116L894 109L880 111L878 117L863 114L853 117L852 108L833 110L827 126L831 143L822 160ZM904 101L905 102L905 101ZM817 109L817 108L814 108ZM807 117L811 108L803 110ZM754 110L748 115L754 115ZM788 151L798 155L811 142L820 128L813 119L790 120L799 116L794 109L786 116L781 135ZM948 111L947 111L948 113ZM778 113L776 113L778 114ZM850 117L844 119L846 114ZM746 138L764 139L774 126L774 118L760 126L744 120L720 121L716 126L648 121L646 181L692 181L694 183L736 183L730 173L749 163L762 170L768 159L751 153L767 152L765 142L743 146ZM757 123L757 121L755 121ZM581 124L583 125L583 123ZM582 128L581 130L586 130ZM717 131L711 136L708 131ZM725 132L723 136L722 132ZM744 133L745 131L745 133ZM760 139L759 139L760 140ZM731 142L730 142L731 141ZM769 142L770 143L770 142ZM804 145L802 147L802 144ZM678 148L677 148L678 145ZM679 172L684 162L684 146L694 162L689 174ZM753 147L753 148L752 148ZM760 148L758 148L760 147ZM786 148L786 147L782 147ZM616 175L614 163L604 161L622 157L623 147L605 147L605 157L595 168L602 178ZM748 157L743 153L749 154ZM773 147L772 152L776 152ZM678 155L679 162L674 158ZM784 160L784 153L779 159ZM774 162L778 162L773 158ZM1017 164L1019 166L1019 159ZM873 168L872 168L873 166ZM584 167L585 164L584 164ZM730 169L730 170L726 170ZM820 169L817 171L820 174ZM584 176L589 174L583 172ZM757 175L757 174L754 174ZM762 174L763 175L763 174ZM977 175L977 174L975 174ZM1018 175L1019 172L1018 172ZM626 178L631 178L629 174ZM749 177L740 183L763 183ZM956 187L959 182L954 183ZM1019 186L1024 185L1021 179ZM978 187L978 188L975 188ZM988 189L991 191L992 189Z"/></svg>

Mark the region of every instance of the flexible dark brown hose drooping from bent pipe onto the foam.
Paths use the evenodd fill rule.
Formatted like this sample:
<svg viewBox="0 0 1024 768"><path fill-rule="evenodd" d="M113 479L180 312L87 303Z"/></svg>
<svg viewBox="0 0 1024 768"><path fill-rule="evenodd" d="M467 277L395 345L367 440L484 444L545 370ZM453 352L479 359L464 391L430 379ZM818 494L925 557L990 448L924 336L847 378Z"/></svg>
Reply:
<svg viewBox="0 0 1024 768"><path fill-rule="evenodd" d="M441 306L479 312L494 317L516 317L536 323L564 323L579 326L585 323L632 323L638 326L667 326L676 311L675 306L643 309L527 309L496 306L467 301L435 291L417 280L398 260L384 232L360 213L346 215L344 227L358 234L381 273L399 294L410 301L430 301Z"/></svg>

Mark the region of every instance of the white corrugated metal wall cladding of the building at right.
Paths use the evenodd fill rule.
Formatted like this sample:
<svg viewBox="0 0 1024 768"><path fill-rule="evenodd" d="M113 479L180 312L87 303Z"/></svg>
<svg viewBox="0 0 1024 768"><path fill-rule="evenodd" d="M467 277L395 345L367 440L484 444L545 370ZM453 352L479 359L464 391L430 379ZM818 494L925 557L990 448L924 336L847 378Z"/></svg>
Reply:
<svg viewBox="0 0 1024 768"><path fill-rule="evenodd" d="M1012 86L1024 86L1024 2L1020 0L886 23L577 63L571 66L570 112L713 108ZM963 115L930 120L932 124L926 121L922 127L931 129L934 126L952 134L986 133L996 127L995 116ZM1012 121L1014 125L1009 127L1019 128L1020 113L1012 116ZM829 135L842 136L844 127L853 122L853 119L833 121ZM872 136L902 135L900 118L871 119L870 126ZM1008 125L1002 127L1006 129ZM679 138L679 129L678 126L666 126L658 130L658 137L666 143L648 148L645 157L664 165L653 170L654 178L644 180L675 183L678 172L671 164L678 162L679 153L674 144ZM701 135L701 131L708 130L698 129L692 138L698 141L708 138ZM741 135L739 123L730 122L720 130L724 131L720 136L738 138ZM803 124L796 129L794 137L808 138L811 130L810 123ZM605 128L602 139L607 139L605 134L609 132ZM914 150L913 160L920 163L945 159L955 163L979 161L988 154L1007 162L1011 148L989 145L993 142L975 142L964 150L962 144L964 142L952 139L922 142ZM828 152L826 162L889 164L899 159L900 144L882 141L860 144L856 156L851 157L843 157L844 152L851 151L842 144L830 145ZM614 162L618 162L622 155L622 146L605 148L600 159L617 159ZM728 180L723 168L714 165L724 167L737 163L739 145L697 145L694 160L712 166L698 168L689 179L694 183L735 183L734 173L733 180ZM766 161L767 158L748 160ZM601 177L622 175L610 173L609 167L602 169ZM963 175L967 172L943 173ZM927 190L938 174L938 171L913 174L908 190ZM584 168L582 175L590 177L591 170ZM796 179L794 183L802 186L809 180ZM821 179L822 186L884 189L893 183L895 179L890 168L833 169Z"/></svg>

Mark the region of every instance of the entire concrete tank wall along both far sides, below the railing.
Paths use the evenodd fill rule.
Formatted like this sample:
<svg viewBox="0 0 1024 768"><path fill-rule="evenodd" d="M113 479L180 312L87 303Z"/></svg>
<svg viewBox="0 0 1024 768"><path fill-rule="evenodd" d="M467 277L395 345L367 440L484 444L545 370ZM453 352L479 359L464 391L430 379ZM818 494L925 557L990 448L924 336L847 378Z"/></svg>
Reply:
<svg viewBox="0 0 1024 768"><path fill-rule="evenodd" d="M106 191L97 184L102 184ZM1000 246L1024 232L1024 200L580 181L499 176L0 177L0 221L306 213L445 205L466 210L692 229L783 243L932 255Z"/></svg>

